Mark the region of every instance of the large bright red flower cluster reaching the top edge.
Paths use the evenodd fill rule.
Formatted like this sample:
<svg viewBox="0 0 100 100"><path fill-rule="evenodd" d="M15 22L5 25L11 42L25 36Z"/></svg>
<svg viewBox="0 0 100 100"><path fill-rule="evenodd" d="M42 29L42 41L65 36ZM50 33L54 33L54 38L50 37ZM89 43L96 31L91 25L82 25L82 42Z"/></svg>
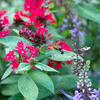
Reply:
<svg viewBox="0 0 100 100"><path fill-rule="evenodd" d="M47 12L48 7L44 7L43 4L45 2L43 0L26 0L24 3L24 9L30 12L29 22L25 23L26 25L30 25L34 22L35 27L40 27L42 23L47 23L47 21L51 21L51 23L56 23L53 19L53 14Z"/></svg>

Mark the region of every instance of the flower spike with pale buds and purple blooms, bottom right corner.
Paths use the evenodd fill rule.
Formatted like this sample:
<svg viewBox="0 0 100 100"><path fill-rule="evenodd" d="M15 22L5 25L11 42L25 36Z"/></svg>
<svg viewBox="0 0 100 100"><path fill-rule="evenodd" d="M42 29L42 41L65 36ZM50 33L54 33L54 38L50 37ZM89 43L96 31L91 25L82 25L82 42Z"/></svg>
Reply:
<svg viewBox="0 0 100 100"><path fill-rule="evenodd" d="M88 60L86 64L84 64L83 69L80 70L79 81L77 82L77 88L73 97L68 95L63 90L59 90L70 100L100 100L100 98L98 98L100 86L98 91L96 89L91 88L92 83L87 75L87 71L90 67L89 65L90 61ZM62 98L60 99L63 100Z"/></svg>

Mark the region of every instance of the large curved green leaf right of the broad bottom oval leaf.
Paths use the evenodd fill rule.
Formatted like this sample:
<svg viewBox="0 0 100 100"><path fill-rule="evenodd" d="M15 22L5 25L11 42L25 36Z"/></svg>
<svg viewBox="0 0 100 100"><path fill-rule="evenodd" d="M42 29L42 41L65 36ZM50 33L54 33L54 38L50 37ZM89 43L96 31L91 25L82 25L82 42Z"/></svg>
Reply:
<svg viewBox="0 0 100 100"><path fill-rule="evenodd" d="M44 86L48 90L50 90L52 93L54 93L54 85L50 77L40 71L34 71L29 73L29 76L38 84Z"/></svg>

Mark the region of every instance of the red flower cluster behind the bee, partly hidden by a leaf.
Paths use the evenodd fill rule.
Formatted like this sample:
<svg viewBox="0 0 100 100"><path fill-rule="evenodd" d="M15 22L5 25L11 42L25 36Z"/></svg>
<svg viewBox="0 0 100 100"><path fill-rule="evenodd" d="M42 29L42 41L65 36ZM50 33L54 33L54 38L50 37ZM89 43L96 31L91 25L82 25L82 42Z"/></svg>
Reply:
<svg viewBox="0 0 100 100"><path fill-rule="evenodd" d="M71 51L71 52L72 52L70 46L69 46L66 42L64 42L64 41L56 41L56 43L57 43L59 46L61 46L62 49L66 50L66 51ZM52 47L51 47L51 46L48 46L47 49L50 49L50 48L52 48ZM69 61L67 61L66 63L67 63L68 65L70 65L71 62L72 62L72 60L69 60ZM58 62L58 61L49 59L49 62L48 62L47 65L50 66L50 67L53 67L53 66L54 66L54 67L56 67L57 69L59 69L59 68L62 67L62 64L63 64L62 61L59 61L59 62Z"/></svg>

